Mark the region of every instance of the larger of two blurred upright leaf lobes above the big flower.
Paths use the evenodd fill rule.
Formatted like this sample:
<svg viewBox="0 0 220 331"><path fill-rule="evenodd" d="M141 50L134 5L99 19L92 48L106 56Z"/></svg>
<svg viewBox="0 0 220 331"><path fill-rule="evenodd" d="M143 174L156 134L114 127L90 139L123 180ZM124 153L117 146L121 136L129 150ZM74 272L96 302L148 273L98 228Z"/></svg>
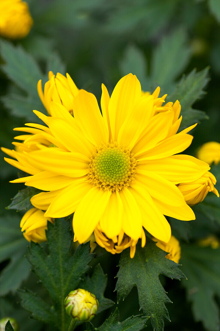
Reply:
<svg viewBox="0 0 220 331"><path fill-rule="evenodd" d="M173 34L162 38L153 53L151 80L167 89L186 67L190 53L183 29L175 30Z"/></svg>

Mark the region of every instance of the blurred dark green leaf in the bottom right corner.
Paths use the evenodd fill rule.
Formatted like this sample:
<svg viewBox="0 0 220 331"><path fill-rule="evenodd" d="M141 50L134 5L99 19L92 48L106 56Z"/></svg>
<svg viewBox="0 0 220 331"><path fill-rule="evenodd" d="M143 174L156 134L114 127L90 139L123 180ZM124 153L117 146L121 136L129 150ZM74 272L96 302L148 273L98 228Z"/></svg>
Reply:
<svg viewBox="0 0 220 331"><path fill-rule="evenodd" d="M208 331L219 331L219 308L215 296L220 297L220 248L182 245L182 269L188 280L183 281L196 321Z"/></svg>

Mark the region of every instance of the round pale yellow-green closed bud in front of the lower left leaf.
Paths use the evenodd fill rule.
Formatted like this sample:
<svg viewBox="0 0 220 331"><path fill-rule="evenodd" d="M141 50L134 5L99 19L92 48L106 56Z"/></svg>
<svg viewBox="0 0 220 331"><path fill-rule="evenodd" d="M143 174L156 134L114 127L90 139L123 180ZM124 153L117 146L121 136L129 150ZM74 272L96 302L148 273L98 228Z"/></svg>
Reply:
<svg viewBox="0 0 220 331"><path fill-rule="evenodd" d="M66 313L75 322L89 322L95 316L98 309L98 300L89 291L78 289L71 291L64 300Z"/></svg>

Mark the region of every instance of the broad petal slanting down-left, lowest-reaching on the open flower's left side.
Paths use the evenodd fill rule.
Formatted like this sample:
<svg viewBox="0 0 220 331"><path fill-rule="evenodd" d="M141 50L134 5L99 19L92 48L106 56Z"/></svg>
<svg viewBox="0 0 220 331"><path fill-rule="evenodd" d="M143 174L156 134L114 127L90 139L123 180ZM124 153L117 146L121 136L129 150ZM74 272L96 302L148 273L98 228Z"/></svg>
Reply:
<svg viewBox="0 0 220 331"><path fill-rule="evenodd" d="M110 196L110 191L92 187L79 203L73 215L73 231L81 244L91 236L106 209Z"/></svg>

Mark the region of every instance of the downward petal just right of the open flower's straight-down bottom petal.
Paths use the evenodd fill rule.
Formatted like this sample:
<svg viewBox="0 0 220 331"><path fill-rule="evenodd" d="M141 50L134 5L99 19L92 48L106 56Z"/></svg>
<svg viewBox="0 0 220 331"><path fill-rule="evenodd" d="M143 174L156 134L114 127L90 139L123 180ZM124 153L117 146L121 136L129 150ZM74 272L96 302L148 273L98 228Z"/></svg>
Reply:
<svg viewBox="0 0 220 331"><path fill-rule="evenodd" d="M119 194L123 203L123 231L132 239L138 240L142 232L142 216L138 204L127 188L123 188Z"/></svg>

